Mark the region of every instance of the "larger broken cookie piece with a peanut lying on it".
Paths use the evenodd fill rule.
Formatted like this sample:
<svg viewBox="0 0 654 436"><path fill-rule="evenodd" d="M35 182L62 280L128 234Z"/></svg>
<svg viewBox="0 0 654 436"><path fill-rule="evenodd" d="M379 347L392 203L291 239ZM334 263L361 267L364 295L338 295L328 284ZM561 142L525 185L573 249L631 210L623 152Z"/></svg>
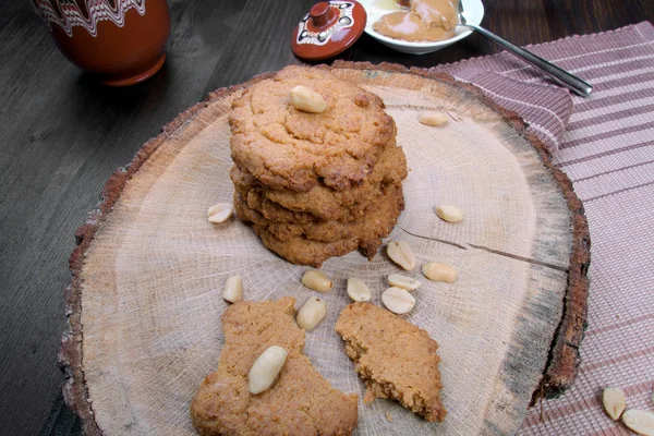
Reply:
<svg viewBox="0 0 654 436"><path fill-rule="evenodd" d="M295 324L294 305L286 296L241 301L225 312L218 371L191 403L201 435L349 435L356 427L356 396L334 389L302 353L304 330ZM272 346L288 351L286 363L269 389L252 395L247 374Z"/></svg>

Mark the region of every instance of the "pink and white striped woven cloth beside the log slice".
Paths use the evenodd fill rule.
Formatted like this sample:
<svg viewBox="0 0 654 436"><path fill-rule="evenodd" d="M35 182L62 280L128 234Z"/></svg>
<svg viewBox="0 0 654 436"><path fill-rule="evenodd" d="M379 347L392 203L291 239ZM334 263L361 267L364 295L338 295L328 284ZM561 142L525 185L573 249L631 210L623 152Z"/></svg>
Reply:
<svg viewBox="0 0 654 436"><path fill-rule="evenodd" d="M570 96L509 53L434 70L474 83L520 113L583 201L593 241L589 319L572 388L528 412L520 435L630 435L602 390L654 412L654 26L531 46L594 86Z"/></svg>

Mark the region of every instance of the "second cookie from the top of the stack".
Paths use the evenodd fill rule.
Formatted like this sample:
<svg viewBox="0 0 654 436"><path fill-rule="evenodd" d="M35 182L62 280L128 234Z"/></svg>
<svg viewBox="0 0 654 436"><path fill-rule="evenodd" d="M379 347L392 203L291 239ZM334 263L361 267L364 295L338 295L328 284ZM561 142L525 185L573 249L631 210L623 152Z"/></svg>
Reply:
<svg viewBox="0 0 654 436"><path fill-rule="evenodd" d="M407 158L402 149L391 141L368 177L343 191L336 191L323 183L306 192L274 190L235 166L230 177L240 192L258 186L267 199L287 209L310 213L326 220L347 221L360 217L379 201L382 184L399 183L407 178Z"/></svg>

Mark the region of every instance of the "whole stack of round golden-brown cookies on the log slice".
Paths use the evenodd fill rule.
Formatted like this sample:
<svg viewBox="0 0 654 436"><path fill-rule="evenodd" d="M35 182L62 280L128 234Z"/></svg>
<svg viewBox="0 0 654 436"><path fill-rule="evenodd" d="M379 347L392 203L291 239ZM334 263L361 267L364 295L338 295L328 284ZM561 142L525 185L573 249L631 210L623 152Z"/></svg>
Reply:
<svg viewBox="0 0 654 436"><path fill-rule="evenodd" d="M374 257L404 208L407 177L382 99L327 69L288 66L232 109L239 218L294 264L319 267L356 249Z"/></svg>

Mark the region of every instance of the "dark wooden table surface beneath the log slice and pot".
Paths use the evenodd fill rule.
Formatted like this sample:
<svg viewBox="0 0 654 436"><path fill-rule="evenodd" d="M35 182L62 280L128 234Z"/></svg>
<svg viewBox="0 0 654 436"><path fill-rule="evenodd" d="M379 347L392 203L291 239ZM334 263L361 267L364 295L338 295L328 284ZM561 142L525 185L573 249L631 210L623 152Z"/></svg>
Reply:
<svg viewBox="0 0 654 436"><path fill-rule="evenodd" d="M27 0L0 2L0 434L78 434L57 367L75 229L111 172L208 92L299 63L290 33L314 0L169 0L168 61L109 89L56 49ZM654 21L652 0L486 0L483 21L519 45ZM489 55L472 35L422 57L364 35L340 59L433 66Z"/></svg>

